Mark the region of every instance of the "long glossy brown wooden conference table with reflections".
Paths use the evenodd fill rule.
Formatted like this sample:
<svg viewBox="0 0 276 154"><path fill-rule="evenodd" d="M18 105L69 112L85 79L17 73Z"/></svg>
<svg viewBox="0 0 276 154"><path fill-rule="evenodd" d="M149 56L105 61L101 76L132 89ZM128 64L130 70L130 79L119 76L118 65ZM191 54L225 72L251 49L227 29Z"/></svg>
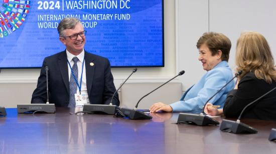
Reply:
<svg viewBox="0 0 276 154"><path fill-rule="evenodd" d="M0 153L276 153L276 142L268 140L275 121L241 119L258 133L234 134L219 125L175 124L179 113L153 113L147 120L70 114L80 109L18 114L6 108Z"/></svg>

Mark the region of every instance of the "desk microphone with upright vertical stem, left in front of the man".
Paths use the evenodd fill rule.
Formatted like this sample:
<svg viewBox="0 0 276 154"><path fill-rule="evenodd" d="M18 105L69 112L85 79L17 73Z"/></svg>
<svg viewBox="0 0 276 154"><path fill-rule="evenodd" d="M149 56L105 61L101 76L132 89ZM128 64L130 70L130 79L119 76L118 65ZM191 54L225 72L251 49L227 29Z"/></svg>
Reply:
<svg viewBox="0 0 276 154"><path fill-rule="evenodd" d="M29 112L46 112L46 113L55 113L56 106L54 103L49 103L49 86L48 86L48 66L45 66L46 71L46 92L47 92L47 101L46 104L43 103L33 103L33 104L17 104L18 113L29 113Z"/></svg>

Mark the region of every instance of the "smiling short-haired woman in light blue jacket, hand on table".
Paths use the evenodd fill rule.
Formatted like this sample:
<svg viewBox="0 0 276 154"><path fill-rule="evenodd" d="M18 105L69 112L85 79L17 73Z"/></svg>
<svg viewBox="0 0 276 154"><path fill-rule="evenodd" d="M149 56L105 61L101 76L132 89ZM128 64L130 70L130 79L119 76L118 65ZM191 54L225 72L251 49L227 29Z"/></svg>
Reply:
<svg viewBox="0 0 276 154"><path fill-rule="evenodd" d="M203 69L207 72L192 87L190 87L181 99L170 105L157 102L150 107L151 112L193 112L199 113L205 102L224 86L233 77L228 65L231 41L222 33L206 32L197 42L199 49L198 60L202 62ZM209 102L213 105L223 104L227 93L234 87L234 81L230 82Z"/></svg>

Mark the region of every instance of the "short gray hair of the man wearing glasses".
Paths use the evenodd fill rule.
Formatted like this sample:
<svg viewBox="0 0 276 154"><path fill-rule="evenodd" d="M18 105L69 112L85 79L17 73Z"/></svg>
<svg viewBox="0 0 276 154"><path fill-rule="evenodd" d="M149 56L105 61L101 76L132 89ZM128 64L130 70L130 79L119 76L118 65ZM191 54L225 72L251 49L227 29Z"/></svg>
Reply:
<svg viewBox="0 0 276 154"><path fill-rule="evenodd" d="M80 20L76 17L66 17L62 19L58 24L58 33L60 37L65 36L63 31L65 29L73 29L75 28L77 23L81 23Z"/></svg>

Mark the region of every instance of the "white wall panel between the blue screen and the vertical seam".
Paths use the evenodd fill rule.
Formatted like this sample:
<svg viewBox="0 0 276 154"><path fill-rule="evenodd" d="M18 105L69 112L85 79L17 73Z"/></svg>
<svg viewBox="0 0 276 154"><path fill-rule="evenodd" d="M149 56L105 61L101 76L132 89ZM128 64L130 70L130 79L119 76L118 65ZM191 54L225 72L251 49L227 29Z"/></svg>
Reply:
<svg viewBox="0 0 276 154"><path fill-rule="evenodd" d="M184 89L205 73L198 60L196 43L208 31L208 0L176 0L176 54L179 69L186 71L180 80Z"/></svg>

